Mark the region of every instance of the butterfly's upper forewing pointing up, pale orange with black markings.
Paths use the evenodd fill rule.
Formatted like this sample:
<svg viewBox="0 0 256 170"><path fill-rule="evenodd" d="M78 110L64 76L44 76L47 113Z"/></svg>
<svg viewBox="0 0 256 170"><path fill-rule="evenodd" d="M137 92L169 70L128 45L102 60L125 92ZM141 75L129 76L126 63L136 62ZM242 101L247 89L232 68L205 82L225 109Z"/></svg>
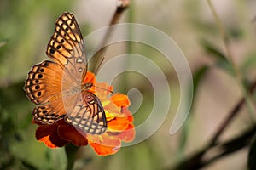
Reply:
<svg viewBox="0 0 256 170"><path fill-rule="evenodd" d="M46 54L63 66L66 74L78 83L87 71L83 37L73 14L64 13L56 20Z"/></svg>

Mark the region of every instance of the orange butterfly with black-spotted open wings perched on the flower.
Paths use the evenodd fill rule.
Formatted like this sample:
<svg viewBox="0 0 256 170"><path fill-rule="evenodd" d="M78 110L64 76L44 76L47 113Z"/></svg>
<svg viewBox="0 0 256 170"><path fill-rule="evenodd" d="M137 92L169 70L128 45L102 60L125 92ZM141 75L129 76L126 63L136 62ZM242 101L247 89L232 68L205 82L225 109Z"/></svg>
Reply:
<svg viewBox="0 0 256 170"><path fill-rule="evenodd" d="M52 124L60 119L85 133L102 134L107 129L105 111L100 99L84 83L88 62L83 37L73 14L61 14L55 22L46 54L51 60L33 65L24 90L36 105L33 119Z"/></svg>

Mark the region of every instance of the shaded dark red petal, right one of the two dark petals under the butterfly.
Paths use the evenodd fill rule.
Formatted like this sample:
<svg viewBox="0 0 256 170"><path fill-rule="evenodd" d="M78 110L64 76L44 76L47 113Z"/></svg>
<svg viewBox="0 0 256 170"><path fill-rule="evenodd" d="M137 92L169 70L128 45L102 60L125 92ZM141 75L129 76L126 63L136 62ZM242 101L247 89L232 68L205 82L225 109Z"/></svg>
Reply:
<svg viewBox="0 0 256 170"><path fill-rule="evenodd" d="M83 132L79 132L79 129L76 129L72 125L67 124L59 126L58 134L62 139L71 141L77 146L85 146L88 144L87 139L84 137L85 134L83 134Z"/></svg>

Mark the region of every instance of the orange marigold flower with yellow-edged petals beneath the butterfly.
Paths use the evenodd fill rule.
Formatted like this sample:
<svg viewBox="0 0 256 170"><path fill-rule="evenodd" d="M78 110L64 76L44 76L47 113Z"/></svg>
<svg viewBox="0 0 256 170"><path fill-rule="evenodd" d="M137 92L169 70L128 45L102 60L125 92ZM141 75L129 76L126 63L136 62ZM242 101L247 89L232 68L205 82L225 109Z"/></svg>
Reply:
<svg viewBox="0 0 256 170"><path fill-rule="evenodd" d="M39 126L36 138L49 148L62 147L69 143L77 146L90 144L98 155L115 154L119 151L122 141L131 142L135 137L133 116L128 110L130 101L125 94L109 96L113 88L107 83L96 82L94 74L90 72L87 72L84 82L92 82L95 85L90 88L90 92L96 94L102 102L108 123L106 132L101 135L85 134L63 119L50 125L33 121Z"/></svg>

